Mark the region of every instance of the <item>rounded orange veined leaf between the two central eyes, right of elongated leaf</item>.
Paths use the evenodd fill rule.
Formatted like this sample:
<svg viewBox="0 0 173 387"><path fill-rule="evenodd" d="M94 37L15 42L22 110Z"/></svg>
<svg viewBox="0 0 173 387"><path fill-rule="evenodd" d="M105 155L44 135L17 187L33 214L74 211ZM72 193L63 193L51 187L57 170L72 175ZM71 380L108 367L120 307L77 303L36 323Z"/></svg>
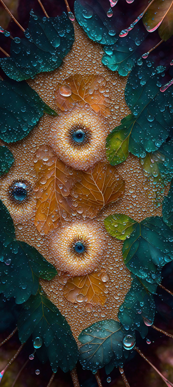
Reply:
<svg viewBox="0 0 173 387"><path fill-rule="evenodd" d="M72 188L74 206L83 216L93 217L105 205L120 199L125 182L116 166L100 162L88 171L76 171L77 183ZM77 197L77 199L75 199Z"/></svg>

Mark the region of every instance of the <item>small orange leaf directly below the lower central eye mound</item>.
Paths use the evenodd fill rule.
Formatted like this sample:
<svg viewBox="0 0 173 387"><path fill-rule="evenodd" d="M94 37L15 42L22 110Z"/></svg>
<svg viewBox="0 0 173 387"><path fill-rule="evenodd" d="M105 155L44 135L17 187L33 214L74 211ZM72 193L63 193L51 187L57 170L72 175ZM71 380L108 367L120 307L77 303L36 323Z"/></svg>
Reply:
<svg viewBox="0 0 173 387"><path fill-rule="evenodd" d="M108 290L101 279L103 274L105 272L100 271L70 278L63 288L65 298L73 303L85 300L92 305L104 305Z"/></svg>

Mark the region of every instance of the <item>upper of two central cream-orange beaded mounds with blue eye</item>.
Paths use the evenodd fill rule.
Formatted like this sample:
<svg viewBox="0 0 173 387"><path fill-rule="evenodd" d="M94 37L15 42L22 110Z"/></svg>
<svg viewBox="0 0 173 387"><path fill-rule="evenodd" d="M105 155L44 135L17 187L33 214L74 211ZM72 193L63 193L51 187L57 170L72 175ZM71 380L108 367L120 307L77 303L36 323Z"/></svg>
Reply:
<svg viewBox="0 0 173 387"><path fill-rule="evenodd" d="M77 131L84 134L81 142L75 140ZM91 108L74 108L53 120L50 146L65 164L87 170L105 157L108 132L108 127Z"/></svg>

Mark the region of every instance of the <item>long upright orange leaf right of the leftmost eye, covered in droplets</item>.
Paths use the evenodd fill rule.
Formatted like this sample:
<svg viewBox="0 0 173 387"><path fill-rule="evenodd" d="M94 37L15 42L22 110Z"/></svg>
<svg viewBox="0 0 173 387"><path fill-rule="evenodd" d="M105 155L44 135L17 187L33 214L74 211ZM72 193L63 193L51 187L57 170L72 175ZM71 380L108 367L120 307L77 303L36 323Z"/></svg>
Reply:
<svg viewBox="0 0 173 387"><path fill-rule="evenodd" d="M69 219L72 213L69 194L74 180L70 168L48 146L38 149L34 163L39 179L34 224L39 232L47 234Z"/></svg>

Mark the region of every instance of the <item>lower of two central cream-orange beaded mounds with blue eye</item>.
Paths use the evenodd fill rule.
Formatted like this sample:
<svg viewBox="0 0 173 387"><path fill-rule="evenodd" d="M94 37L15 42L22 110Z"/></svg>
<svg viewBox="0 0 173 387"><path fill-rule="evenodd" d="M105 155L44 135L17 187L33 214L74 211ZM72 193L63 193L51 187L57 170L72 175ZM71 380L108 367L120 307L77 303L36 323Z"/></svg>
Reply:
<svg viewBox="0 0 173 387"><path fill-rule="evenodd" d="M90 273L106 251L104 227L94 220L67 222L51 234L49 248L56 269L70 276Z"/></svg>

